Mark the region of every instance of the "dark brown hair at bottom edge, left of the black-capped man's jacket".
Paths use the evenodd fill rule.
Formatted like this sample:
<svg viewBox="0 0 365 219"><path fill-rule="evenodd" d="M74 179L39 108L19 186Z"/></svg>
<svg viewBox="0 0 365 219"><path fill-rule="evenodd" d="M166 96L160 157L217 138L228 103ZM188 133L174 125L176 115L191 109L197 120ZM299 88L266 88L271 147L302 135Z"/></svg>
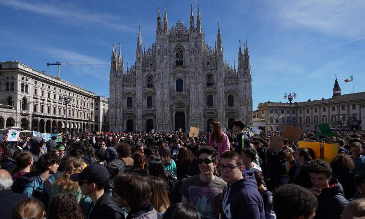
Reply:
<svg viewBox="0 0 365 219"><path fill-rule="evenodd" d="M59 194L50 203L47 219L84 219L81 208L72 194Z"/></svg>

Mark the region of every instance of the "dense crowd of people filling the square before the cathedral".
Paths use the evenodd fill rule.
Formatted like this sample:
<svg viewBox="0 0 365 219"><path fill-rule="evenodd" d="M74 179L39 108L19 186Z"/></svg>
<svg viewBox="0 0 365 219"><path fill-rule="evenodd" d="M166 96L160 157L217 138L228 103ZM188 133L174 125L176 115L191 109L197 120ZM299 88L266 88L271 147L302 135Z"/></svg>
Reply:
<svg viewBox="0 0 365 219"><path fill-rule="evenodd" d="M304 132L310 148L250 136L241 121L209 133L64 133L0 142L2 219L354 219L365 217L365 132Z"/></svg>

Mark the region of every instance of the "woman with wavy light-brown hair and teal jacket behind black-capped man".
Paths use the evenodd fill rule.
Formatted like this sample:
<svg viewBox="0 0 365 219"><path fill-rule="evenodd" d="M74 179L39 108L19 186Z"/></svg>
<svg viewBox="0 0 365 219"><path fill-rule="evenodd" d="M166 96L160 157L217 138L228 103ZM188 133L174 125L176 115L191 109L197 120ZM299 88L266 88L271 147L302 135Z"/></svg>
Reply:
<svg viewBox="0 0 365 219"><path fill-rule="evenodd" d="M70 179L71 174L80 173L83 169L84 159L82 159L82 157L70 157L67 159L64 175L55 182L52 188L50 203L57 194L71 193L73 196L75 196L76 201L80 205L85 218L87 218L89 207L92 202L91 198L89 196L82 195L78 183L73 182Z"/></svg>

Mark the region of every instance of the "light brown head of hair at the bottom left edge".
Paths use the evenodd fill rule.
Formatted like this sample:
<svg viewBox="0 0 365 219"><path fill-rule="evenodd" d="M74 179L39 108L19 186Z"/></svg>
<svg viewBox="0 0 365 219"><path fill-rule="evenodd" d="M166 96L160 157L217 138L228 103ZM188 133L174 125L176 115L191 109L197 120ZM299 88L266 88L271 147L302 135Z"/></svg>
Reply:
<svg viewBox="0 0 365 219"><path fill-rule="evenodd" d="M36 198L19 201L13 208L12 219L43 219L46 216L44 204Z"/></svg>

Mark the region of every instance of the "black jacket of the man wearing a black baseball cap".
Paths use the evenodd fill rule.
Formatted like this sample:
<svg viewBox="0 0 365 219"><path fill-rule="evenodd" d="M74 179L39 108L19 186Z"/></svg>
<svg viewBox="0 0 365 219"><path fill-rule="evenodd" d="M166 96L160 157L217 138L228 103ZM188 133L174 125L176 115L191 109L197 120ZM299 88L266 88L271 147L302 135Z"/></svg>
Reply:
<svg viewBox="0 0 365 219"><path fill-rule="evenodd" d="M124 211L115 198L104 193L94 204L89 219L124 219Z"/></svg>

